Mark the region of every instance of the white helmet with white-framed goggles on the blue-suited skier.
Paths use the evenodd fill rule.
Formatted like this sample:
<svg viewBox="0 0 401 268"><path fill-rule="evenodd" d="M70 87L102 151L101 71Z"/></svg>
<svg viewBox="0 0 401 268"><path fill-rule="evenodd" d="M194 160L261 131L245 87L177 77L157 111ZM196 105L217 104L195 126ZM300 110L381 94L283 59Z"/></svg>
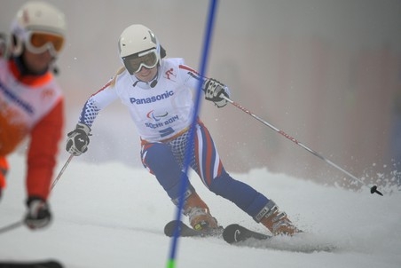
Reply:
<svg viewBox="0 0 401 268"><path fill-rule="evenodd" d="M119 54L130 75L142 67L153 68L160 63L161 45L153 32L140 24L125 28L118 41Z"/></svg>

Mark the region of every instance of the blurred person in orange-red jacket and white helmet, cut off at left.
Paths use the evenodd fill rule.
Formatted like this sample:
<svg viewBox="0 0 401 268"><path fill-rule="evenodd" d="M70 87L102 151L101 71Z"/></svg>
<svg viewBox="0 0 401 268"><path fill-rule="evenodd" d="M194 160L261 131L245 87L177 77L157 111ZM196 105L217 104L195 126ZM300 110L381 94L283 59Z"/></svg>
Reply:
<svg viewBox="0 0 401 268"><path fill-rule="evenodd" d="M64 123L64 97L51 71L65 32L62 12L28 2L12 22L10 45L0 59L0 196L9 169L6 156L29 138L24 223L30 229L51 222L48 197Z"/></svg>

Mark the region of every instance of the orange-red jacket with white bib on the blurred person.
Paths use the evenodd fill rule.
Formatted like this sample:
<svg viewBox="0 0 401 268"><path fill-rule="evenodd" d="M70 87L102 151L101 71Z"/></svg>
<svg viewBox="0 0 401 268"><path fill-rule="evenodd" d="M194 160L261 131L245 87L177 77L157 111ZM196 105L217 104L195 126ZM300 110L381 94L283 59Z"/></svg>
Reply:
<svg viewBox="0 0 401 268"><path fill-rule="evenodd" d="M64 126L64 97L53 75L20 75L0 59L0 158L24 138L28 145L28 197L47 200Z"/></svg>

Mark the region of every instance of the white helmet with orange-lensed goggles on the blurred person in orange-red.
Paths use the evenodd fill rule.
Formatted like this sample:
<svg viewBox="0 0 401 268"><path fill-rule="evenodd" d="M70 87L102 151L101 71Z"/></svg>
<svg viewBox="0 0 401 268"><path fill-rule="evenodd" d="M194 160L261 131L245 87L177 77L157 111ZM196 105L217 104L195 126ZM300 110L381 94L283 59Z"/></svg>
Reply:
<svg viewBox="0 0 401 268"><path fill-rule="evenodd" d="M63 48L66 30L63 12L44 2L28 2L12 22L12 54L19 56L25 45L30 52L49 50L56 56Z"/></svg>

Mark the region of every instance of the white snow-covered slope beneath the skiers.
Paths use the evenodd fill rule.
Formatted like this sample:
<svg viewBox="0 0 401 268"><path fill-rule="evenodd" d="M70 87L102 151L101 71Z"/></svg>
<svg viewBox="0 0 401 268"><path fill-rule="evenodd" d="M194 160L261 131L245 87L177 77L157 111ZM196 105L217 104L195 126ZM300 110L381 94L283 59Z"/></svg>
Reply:
<svg viewBox="0 0 401 268"><path fill-rule="evenodd" d="M18 221L25 211L25 159L13 154L10 162L9 185L0 202L0 227ZM307 233L290 240L278 238L276 249L240 248L216 238L180 239L177 267L401 266L400 192L381 197L366 188L355 193L266 169L232 175L276 201ZM222 225L240 223L266 232L231 202L209 193L194 174L191 178ZM75 157L53 190L51 209L55 220L46 230L20 227L0 234L0 260L55 258L72 268L167 264L171 240L162 230L176 210L145 169L119 162L88 164ZM337 249L313 253L277 249L323 244Z"/></svg>

